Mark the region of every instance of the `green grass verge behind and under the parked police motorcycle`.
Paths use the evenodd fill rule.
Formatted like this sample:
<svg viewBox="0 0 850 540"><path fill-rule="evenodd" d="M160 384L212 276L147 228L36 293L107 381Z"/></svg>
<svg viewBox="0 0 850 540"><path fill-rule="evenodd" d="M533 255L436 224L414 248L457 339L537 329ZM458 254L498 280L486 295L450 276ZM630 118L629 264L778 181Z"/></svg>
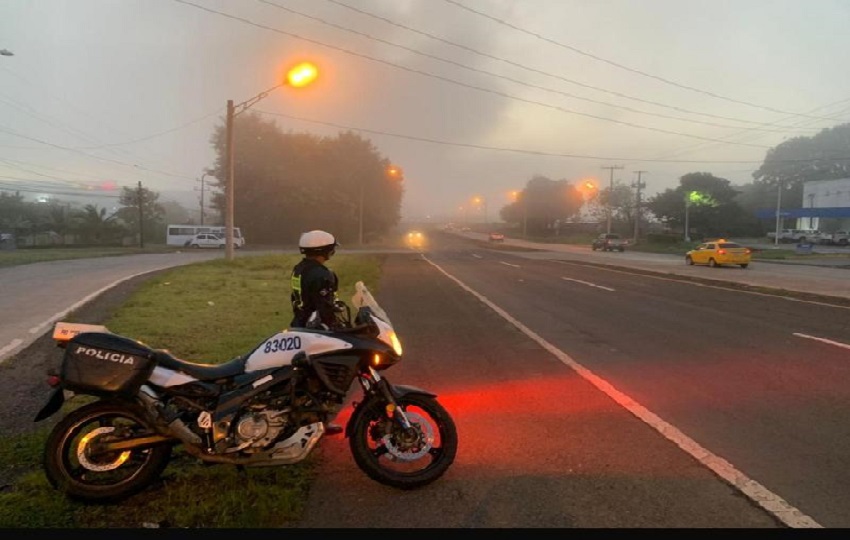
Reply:
<svg viewBox="0 0 850 540"><path fill-rule="evenodd" d="M229 360L289 324L289 274L299 258L261 255L174 268L146 282L103 324L188 360ZM336 255L329 266L340 277L340 298L348 302L358 280L377 293L382 260ZM0 527L285 527L303 510L317 459L314 453L296 465L239 470L204 465L178 447L155 486L117 505L85 505L45 479L46 438L47 428L0 437L0 464L15 478L0 489Z"/></svg>

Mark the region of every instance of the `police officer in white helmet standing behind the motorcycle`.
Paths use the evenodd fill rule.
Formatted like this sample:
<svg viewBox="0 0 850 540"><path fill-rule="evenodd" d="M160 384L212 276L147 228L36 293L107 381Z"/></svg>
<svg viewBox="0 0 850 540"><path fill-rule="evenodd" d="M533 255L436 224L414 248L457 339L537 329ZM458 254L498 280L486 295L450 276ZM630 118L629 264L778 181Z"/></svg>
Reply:
<svg viewBox="0 0 850 540"><path fill-rule="evenodd" d="M336 252L339 243L328 232L315 230L305 232L298 241L304 258L292 269L290 283L292 293L291 327L307 327L313 312L317 312L319 323L326 328L337 328L337 289L339 280L325 263Z"/></svg>

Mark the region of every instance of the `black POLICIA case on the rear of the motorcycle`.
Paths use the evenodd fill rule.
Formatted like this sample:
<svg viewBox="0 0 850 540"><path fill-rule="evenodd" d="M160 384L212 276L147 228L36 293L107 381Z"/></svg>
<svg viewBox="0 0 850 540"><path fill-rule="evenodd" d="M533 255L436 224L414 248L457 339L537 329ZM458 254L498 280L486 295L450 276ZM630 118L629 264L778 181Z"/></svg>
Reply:
<svg viewBox="0 0 850 540"><path fill-rule="evenodd" d="M84 332L68 341L60 377L74 392L98 396L132 396L150 377L153 351L116 334Z"/></svg>

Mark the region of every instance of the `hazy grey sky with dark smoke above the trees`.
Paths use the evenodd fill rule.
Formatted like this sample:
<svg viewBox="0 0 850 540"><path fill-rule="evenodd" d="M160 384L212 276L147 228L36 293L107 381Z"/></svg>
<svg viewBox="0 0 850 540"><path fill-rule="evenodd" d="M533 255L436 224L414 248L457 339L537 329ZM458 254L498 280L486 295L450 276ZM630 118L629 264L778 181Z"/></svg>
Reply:
<svg viewBox="0 0 850 540"><path fill-rule="evenodd" d="M0 0L0 189L197 206L227 101L301 61L314 84L250 111L372 141L407 221L475 197L494 220L536 175L741 185L850 121L847 21L847 0Z"/></svg>

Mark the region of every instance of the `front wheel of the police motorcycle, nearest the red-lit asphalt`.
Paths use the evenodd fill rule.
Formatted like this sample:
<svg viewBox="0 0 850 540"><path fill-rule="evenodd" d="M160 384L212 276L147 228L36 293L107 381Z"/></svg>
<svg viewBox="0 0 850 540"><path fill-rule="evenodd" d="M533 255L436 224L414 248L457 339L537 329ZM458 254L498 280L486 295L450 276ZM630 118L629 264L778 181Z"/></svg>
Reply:
<svg viewBox="0 0 850 540"><path fill-rule="evenodd" d="M353 418L349 446L354 462L369 478L399 489L415 489L445 473L457 454L457 429L436 399L408 394L397 401L412 428L387 416L378 400Z"/></svg>

